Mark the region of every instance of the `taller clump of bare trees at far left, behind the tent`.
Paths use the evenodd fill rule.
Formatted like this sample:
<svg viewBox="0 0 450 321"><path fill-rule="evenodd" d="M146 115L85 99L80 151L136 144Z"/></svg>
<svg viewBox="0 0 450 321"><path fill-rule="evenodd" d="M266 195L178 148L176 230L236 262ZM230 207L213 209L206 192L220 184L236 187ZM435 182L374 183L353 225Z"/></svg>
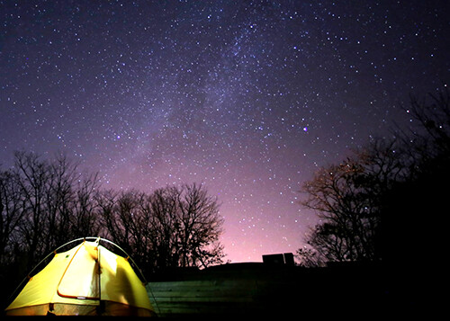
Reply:
<svg viewBox="0 0 450 321"><path fill-rule="evenodd" d="M58 245L96 233L96 176L60 155L16 152L0 172L0 281L7 290ZM94 234L95 235L95 234ZM6 294L9 292L6 290Z"/></svg>

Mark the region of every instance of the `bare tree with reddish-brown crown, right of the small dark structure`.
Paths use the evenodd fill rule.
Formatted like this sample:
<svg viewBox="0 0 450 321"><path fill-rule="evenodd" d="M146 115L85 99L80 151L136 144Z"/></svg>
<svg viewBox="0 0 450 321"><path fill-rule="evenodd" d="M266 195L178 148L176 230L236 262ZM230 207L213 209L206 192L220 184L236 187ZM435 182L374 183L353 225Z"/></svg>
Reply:
<svg viewBox="0 0 450 321"><path fill-rule="evenodd" d="M321 168L304 183L302 192L308 196L302 205L316 210L320 218L320 224L308 236L318 260L377 258L375 234L381 222L381 199L404 174L400 154L396 153L395 141L375 139L355 156Z"/></svg>

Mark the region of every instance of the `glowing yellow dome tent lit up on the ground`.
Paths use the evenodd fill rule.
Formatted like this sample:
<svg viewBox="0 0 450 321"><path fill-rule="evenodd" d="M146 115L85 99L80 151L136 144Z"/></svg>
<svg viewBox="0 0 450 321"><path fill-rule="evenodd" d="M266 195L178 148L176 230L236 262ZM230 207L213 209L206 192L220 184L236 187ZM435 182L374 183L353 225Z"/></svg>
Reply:
<svg viewBox="0 0 450 321"><path fill-rule="evenodd" d="M10 316L155 316L128 258L94 242L55 254L6 308Z"/></svg>

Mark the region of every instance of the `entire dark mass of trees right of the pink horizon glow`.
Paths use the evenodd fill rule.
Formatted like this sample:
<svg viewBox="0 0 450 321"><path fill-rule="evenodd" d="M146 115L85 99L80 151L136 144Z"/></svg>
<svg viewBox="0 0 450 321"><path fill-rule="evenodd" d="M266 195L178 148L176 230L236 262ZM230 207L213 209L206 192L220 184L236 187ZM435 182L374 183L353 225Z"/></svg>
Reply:
<svg viewBox="0 0 450 321"><path fill-rule="evenodd" d="M445 87L412 96L404 111L410 129L373 139L303 184L302 205L320 223L297 252L302 265L378 262L417 272L410 280L417 284L440 260L449 213L450 93Z"/></svg>

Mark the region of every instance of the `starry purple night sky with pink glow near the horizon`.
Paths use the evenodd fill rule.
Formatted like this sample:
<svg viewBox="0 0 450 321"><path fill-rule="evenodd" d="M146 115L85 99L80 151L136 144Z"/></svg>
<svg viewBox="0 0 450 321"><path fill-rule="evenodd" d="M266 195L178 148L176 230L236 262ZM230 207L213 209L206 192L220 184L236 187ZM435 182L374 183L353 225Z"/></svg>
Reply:
<svg viewBox="0 0 450 321"><path fill-rule="evenodd" d="M203 183L231 262L302 247L299 190L449 76L448 1L0 1L0 164Z"/></svg>

